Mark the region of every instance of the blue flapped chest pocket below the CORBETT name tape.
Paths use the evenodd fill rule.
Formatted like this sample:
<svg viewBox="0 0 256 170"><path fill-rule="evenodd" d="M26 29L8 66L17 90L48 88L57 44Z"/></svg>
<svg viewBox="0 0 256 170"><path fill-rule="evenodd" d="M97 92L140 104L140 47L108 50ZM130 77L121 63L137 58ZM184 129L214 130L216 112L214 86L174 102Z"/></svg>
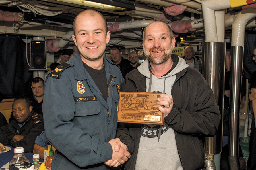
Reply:
<svg viewBox="0 0 256 170"><path fill-rule="evenodd" d="M100 133L100 105L96 102L81 102L75 104L73 122L88 135Z"/></svg>

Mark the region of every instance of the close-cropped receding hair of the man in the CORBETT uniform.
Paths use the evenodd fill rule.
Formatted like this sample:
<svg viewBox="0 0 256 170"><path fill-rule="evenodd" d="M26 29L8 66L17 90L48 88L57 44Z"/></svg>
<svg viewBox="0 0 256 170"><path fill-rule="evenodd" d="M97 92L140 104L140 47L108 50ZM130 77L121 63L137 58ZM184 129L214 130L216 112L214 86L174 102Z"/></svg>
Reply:
<svg viewBox="0 0 256 170"><path fill-rule="evenodd" d="M87 10L84 10L82 12L80 12L74 19L74 22L73 22L73 30L74 30L74 35L76 35L76 25L77 25L77 22L81 22L81 21L77 21L77 18L79 18L79 16L95 16L95 15L98 15L102 18L102 22L104 22L104 27L105 27L105 31L107 32L108 31L108 27L107 27L107 21L105 19L105 17L98 11L95 11L95 10L91 10L91 9L87 9Z"/></svg>

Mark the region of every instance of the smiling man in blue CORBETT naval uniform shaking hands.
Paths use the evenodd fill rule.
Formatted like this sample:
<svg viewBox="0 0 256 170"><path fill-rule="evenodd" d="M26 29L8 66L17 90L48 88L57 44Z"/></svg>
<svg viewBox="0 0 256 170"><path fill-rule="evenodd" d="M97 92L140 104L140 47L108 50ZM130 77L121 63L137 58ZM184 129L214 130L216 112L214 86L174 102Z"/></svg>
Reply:
<svg viewBox="0 0 256 170"><path fill-rule="evenodd" d="M110 31L104 16L94 10L74 20L77 53L58 65L45 82L45 134L57 150L52 169L108 169L123 164L130 154L115 139L117 104L123 76L104 58ZM115 152L115 145L121 146ZM112 161L113 160L113 161Z"/></svg>

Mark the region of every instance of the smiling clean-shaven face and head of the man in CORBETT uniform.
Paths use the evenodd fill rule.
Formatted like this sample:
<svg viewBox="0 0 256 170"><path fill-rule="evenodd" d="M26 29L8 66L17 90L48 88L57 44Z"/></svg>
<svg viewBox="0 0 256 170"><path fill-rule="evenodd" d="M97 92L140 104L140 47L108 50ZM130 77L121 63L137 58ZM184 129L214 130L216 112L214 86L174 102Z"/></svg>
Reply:
<svg viewBox="0 0 256 170"><path fill-rule="evenodd" d="M82 60L97 60L104 57L110 31L106 33L104 20L93 10L81 12L75 20L75 35L72 36Z"/></svg>

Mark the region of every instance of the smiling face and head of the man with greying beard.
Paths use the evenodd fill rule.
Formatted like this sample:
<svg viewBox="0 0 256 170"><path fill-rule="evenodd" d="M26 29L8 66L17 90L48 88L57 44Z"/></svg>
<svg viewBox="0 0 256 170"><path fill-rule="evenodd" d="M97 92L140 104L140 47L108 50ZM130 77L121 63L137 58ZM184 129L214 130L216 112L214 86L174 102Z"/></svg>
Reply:
<svg viewBox="0 0 256 170"><path fill-rule="evenodd" d="M153 22L145 31L142 42L144 54L155 65L165 63L171 58L175 46L175 38L171 38L169 28L162 22Z"/></svg>

